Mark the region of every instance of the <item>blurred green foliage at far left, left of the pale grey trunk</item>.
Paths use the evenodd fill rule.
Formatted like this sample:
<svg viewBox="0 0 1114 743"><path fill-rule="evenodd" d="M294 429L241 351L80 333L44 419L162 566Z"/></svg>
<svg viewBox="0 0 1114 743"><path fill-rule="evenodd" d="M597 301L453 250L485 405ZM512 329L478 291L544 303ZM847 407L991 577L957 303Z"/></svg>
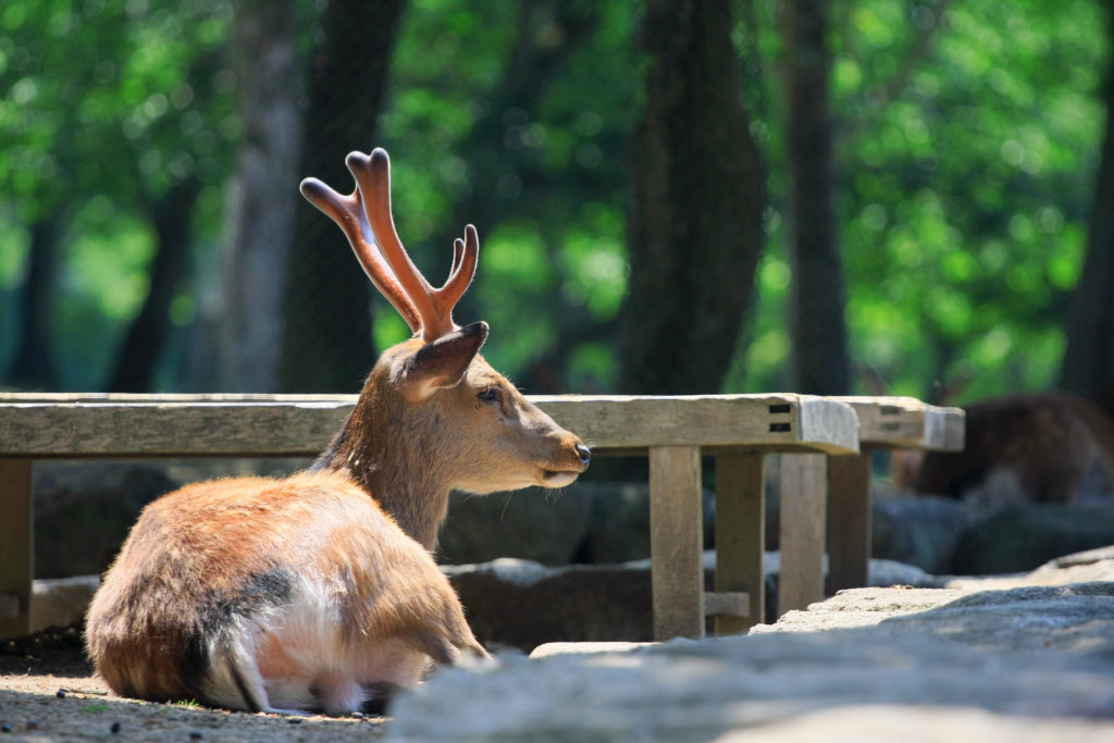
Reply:
<svg viewBox="0 0 1114 743"><path fill-rule="evenodd" d="M157 199L186 177L219 189L228 176L241 134L222 61L231 13L223 0L0 11L0 289L21 278L26 226L66 225L56 321L68 387L104 383L139 310ZM223 205L199 203L212 239Z"/></svg>

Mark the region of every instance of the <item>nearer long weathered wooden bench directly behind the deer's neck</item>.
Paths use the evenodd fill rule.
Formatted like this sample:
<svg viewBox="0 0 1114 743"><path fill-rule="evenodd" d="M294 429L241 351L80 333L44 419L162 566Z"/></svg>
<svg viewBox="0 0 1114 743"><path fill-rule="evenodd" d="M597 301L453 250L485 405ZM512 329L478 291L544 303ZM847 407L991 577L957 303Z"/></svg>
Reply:
<svg viewBox="0 0 1114 743"><path fill-rule="evenodd" d="M658 638L723 632L764 612L764 457L858 452L851 405L797 394L534 397L597 453L648 454ZM355 395L0 394L0 636L30 622L31 470L37 459L304 457ZM715 457L719 565L703 588L701 457Z"/></svg>

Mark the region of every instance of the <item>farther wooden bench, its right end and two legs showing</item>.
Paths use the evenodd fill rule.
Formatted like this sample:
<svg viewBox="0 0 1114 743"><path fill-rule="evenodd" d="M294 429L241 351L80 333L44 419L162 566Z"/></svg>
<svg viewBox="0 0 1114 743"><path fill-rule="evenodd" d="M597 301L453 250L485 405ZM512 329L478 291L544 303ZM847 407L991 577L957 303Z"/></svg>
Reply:
<svg viewBox="0 0 1114 743"><path fill-rule="evenodd" d="M913 398L830 398L859 418L860 453L782 458L781 574L778 614L807 608L843 588L866 586L870 566L870 469L878 449L961 451L965 414L959 408ZM821 583L828 555L828 580Z"/></svg>

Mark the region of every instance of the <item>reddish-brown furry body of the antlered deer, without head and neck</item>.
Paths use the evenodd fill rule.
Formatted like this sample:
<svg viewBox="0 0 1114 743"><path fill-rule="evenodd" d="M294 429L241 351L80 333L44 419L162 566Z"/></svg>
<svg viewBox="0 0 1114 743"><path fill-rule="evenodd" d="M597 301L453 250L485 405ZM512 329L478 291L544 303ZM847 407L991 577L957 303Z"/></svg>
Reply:
<svg viewBox="0 0 1114 743"><path fill-rule="evenodd" d="M351 480L238 478L144 510L94 598L87 639L123 695L306 708L314 683L336 674L413 683L431 655L414 616L463 625L429 554ZM268 701L236 703L252 686L244 674Z"/></svg>

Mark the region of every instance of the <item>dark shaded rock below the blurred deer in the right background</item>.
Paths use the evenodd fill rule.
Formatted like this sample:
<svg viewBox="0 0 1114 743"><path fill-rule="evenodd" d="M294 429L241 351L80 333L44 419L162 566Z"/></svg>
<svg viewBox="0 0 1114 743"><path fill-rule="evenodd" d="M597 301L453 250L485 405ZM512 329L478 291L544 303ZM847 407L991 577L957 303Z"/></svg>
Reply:
<svg viewBox="0 0 1114 743"><path fill-rule="evenodd" d="M962 532L951 571L1020 573L1063 555L1110 544L1114 544L1114 506L1110 504L1017 504Z"/></svg>

